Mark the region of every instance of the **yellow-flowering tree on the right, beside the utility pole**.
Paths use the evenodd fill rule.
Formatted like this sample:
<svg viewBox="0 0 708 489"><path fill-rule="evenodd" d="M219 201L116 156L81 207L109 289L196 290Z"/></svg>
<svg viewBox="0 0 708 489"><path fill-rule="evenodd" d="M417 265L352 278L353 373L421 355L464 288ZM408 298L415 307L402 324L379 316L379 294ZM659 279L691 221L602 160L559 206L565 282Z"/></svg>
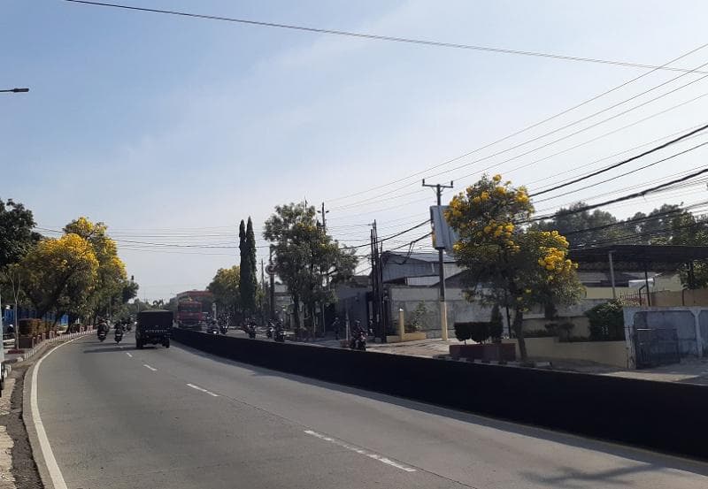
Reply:
<svg viewBox="0 0 708 489"><path fill-rule="evenodd" d="M466 268L466 296L513 310L512 330L521 359L527 349L524 312L536 305L570 304L581 294L568 241L557 231L532 231L523 225L534 214L526 187L484 175L450 201L446 219L459 233L454 245Z"/></svg>

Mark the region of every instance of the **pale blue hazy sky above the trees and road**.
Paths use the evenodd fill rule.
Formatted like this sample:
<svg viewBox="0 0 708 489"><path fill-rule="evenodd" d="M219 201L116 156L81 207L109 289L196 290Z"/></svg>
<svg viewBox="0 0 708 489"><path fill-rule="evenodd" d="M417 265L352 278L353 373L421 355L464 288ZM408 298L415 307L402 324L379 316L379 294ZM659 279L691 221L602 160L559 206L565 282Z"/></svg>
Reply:
<svg viewBox="0 0 708 489"><path fill-rule="evenodd" d="M708 42L701 1L126 4L643 65ZM30 88L0 94L0 198L23 202L48 236L79 216L103 221L149 300L204 288L238 264L242 218L253 219L267 260L260 233L278 204L325 202L330 233L366 255L374 219L384 237L427 218L435 195L422 178L453 180L448 201L483 172L533 194L708 122L708 65L651 71L61 0L4 0L0 43L0 88ZM671 66L705 63L708 48ZM698 134L544 195L536 210L603 202L701 169L706 147L640 168L705 141ZM705 192L696 179L604 210L627 218L664 202L704 202ZM407 250L427 232L386 248Z"/></svg>

